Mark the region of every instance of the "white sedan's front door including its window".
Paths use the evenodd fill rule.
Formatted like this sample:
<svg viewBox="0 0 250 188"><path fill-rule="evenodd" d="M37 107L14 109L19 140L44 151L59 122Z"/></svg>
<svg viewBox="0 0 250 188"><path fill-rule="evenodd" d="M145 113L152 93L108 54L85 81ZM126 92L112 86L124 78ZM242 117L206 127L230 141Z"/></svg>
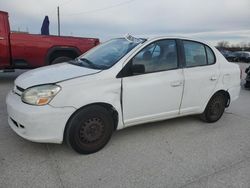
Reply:
<svg viewBox="0 0 250 188"><path fill-rule="evenodd" d="M132 69L122 78L125 126L179 114L184 76L177 57L176 41L160 40L146 46L124 67ZM133 72L134 65L144 65L145 71Z"/></svg>

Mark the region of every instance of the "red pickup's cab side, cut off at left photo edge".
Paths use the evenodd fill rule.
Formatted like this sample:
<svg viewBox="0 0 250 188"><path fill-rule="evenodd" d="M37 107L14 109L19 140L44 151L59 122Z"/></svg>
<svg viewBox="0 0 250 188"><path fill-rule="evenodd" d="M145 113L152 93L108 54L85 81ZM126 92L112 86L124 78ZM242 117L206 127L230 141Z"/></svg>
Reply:
<svg viewBox="0 0 250 188"><path fill-rule="evenodd" d="M8 15L0 12L0 69L10 62Z"/></svg>

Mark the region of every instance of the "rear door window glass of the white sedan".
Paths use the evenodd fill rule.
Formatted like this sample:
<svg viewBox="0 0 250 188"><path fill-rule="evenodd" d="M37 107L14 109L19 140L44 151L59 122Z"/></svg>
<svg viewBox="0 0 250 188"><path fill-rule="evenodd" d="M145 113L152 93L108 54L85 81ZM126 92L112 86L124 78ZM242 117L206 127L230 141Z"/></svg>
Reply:
<svg viewBox="0 0 250 188"><path fill-rule="evenodd" d="M215 56L212 50L201 43L183 41L186 67L211 65L215 63Z"/></svg>

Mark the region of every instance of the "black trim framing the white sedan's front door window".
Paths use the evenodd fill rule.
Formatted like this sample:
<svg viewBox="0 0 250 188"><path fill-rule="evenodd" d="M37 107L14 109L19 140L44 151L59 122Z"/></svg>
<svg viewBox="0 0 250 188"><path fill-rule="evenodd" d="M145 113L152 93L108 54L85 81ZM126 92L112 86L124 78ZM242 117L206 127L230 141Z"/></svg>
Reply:
<svg viewBox="0 0 250 188"><path fill-rule="evenodd" d="M160 42L160 41L165 41L165 40L172 40L175 42L175 48L176 48L176 54L177 54L177 67L176 68L172 68L172 69L167 69L167 70L158 70L158 71L152 71L152 72L145 72L143 74L133 74L133 75L127 75L127 69L129 69L129 67L131 66L131 60L137 56L143 49L147 48L149 45L156 43L156 42ZM149 44L147 44L146 46L144 46L140 51L138 51L135 55L133 55L126 63L125 66L123 66L123 68L119 71L119 73L117 74L116 78L126 78L126 77L131 77L131 76L140 76L140 75L145 75L145 74L153 74L153 73L158 73L158 72L164 72L164 71L171 71L171 70L177 70L179 68L183 67L183 59L181 58L181 44L180 44L180 39L178 38L166 38L166 39L159 39L159 40L155 40L150 42ZM182 60L182 61L180 61Z"/></svg>

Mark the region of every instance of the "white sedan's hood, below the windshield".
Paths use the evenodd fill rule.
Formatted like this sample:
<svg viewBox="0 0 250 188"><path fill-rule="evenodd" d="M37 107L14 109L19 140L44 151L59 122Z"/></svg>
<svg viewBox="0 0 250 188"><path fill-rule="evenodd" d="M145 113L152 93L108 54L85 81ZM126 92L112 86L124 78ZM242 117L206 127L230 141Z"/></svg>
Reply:
<svg viewBox="0 0 250 188"><path fill-rule="evenodd" d="M15 84L26 89L35 85L56 83L98 72L101 72L101 70L89 69L69 63L60 63L23 73L15 80Z"/></svg>

